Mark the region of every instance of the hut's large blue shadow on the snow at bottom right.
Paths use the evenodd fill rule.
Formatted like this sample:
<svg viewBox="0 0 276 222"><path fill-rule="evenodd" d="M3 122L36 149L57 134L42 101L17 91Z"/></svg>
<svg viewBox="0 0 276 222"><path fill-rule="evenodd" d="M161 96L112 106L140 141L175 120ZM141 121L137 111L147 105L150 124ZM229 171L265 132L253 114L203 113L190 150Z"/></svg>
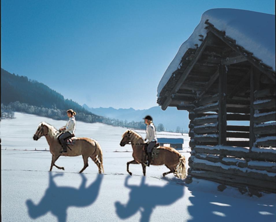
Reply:
<svg viewBox="0 0 276 222"><path fill-rule="evenodd" d="M237 198L222 193L209 193L188 187L192 196L188 212L192 219L199 221L275 221L275 205L261 203L258 199L247 197Z"/></svg>

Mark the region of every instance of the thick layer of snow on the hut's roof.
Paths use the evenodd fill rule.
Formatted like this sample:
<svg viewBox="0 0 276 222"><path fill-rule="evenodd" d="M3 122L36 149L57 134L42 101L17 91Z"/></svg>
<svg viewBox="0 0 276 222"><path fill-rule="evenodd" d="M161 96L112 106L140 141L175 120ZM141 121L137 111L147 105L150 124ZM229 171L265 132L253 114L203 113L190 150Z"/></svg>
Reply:
<svg viewBox="0 0 276 222"><path fill-rule="evenodd" d="M236 40L255 57L262 60L275 71L275 15L260 12L252 12L240 9L218 8L210 9L203 13L201 21L191 36L180 46L175 58L168 66L157 89L157 97L160 96L172 73L177 70L181 58L189 48L196 49L195 44L201 45L199 35L205 38L207 29L204 23L209 20L217 29L225 31L225 34Z"/></svg>

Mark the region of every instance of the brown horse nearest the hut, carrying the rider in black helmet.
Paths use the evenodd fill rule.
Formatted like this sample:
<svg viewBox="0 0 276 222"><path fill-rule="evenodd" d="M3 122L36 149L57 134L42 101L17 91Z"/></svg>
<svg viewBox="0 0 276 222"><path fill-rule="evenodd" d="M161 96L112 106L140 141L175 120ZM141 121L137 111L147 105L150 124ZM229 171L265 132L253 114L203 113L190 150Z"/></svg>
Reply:
<svg viewBox="0 0 276 222"><path fill-rule="evenodd" d="M127 162L127 172L132 175L129 171L129 164L142 164L143 174L146 175L146 155L144 151L144 140L138 133L127 130L123 134L120 145L123 147L126 144L131 143L134 160ZM163 177L169 173L173 173L176 177L184 179L186 178L186 165L185 157L182 156L172 147L159 147L156 149L157 155L153 155L151 165L165 165L170 169L169 172L163 173Z"/></svg>

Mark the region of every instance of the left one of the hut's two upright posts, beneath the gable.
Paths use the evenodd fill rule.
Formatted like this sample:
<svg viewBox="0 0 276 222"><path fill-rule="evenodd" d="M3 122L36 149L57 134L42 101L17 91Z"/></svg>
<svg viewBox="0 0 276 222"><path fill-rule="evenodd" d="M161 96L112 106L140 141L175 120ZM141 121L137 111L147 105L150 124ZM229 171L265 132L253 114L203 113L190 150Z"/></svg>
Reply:
<svg viewBox="0 0 276 222"><path fill-rule="evenodd" d="M227 75L225 65L219 66L218 79L218 144L225 145L226 143L226 126L227 126L227 112L226 112L226 93L227 93Z"/></svg>

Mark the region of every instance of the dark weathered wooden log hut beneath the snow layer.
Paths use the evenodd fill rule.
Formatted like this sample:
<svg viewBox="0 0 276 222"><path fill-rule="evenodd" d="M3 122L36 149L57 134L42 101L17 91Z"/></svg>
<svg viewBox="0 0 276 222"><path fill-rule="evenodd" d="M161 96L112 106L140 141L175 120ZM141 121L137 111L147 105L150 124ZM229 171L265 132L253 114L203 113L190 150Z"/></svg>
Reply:
<svg viewBox="0 0 276 222"><path fill-rule="evenodd" d="M201 45L188 48L158 95L163 110L189 112L186 182L200 178L276 193L275 70L211 21L205 29Z"/></svg>

